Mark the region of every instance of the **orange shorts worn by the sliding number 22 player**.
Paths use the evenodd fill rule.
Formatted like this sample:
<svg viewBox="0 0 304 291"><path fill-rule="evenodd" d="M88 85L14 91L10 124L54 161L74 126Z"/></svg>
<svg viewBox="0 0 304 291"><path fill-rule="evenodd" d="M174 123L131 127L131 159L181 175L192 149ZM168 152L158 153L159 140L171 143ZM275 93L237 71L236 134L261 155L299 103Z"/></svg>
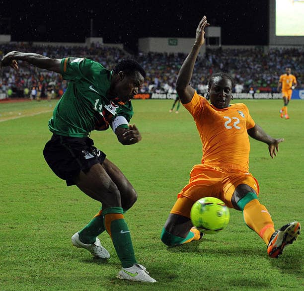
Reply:
<svg viewBox="0 0 304 291"><path fill-rule="evenodd" d="M259 194L257 180L246 169L221 163L195 165L190 172L189 184L177 195L170 213L190 218L192 205L203 197L216 197L233 208L231 198L235 188L246 184Z"/></svg>

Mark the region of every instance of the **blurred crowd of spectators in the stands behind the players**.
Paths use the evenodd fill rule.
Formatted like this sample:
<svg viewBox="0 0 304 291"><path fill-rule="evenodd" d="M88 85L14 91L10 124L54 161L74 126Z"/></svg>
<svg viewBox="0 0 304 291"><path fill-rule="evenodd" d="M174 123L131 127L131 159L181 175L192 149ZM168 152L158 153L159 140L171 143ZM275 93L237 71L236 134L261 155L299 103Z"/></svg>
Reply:
<svg viewBox="0 0 304 291"><path fill-rule="evenodd" d="M132 56L124 50L99 44L85 46L33 46L30 43L0 45L0 58L12 50L21 52L35 51L51 58L66 56L87 57L113 68L118 60L131 57L137 59L147 72L141 93L175 93L175 81L186 54L139 53ZM292 68L298 80L298 89L304 87L303 48L271 48L267 53L263 48L252 49L206 49L199 56L193 72L192 87L200 94L207 93L208 77L215 72L229 73L235 81L235 92L277 92L279 76L285 67ZM0 74L0 93L7 97L60 97L67 87L67 81L60 74L40 70L20 64L20 70L4 68Z"/></svg>

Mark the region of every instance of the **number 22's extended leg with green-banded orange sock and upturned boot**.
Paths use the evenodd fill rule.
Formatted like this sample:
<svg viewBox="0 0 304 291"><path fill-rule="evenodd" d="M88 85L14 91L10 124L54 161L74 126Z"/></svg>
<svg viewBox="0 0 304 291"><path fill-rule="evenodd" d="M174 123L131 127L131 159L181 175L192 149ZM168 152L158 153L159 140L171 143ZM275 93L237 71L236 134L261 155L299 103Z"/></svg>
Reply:
<svg viewBox="0 0 304 291"><path fill-rule="evenodd" d="M243 212L245 223L267 244L270 257L277 258L283 249L293 243L300 234L301 225L295 221L275 231L274 223L266 207L257 199L256 191L246 184L235 188L231 202L235 209Z"/></svg>

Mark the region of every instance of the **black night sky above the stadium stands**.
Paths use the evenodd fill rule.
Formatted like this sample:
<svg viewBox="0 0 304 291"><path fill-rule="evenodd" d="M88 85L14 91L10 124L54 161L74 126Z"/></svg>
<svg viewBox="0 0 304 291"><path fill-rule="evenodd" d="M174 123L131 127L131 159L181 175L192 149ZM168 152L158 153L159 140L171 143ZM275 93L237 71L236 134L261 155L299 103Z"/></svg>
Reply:
<svg viewBox="0 0 304 291"><path fill-rule="evenodd" d="M140 37L195 37L203 15L222 27L223 45L267 45L268 1L258 0L0 0L0 34L12 41L123 43L136 51Z"/></svg>

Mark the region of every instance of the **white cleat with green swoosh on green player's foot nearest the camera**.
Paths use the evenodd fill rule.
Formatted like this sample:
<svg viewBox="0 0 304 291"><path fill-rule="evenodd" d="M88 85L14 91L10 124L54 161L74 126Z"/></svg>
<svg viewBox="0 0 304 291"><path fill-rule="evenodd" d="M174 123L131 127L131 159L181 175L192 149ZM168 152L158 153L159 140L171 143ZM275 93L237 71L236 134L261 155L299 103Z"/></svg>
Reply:
<svg viewBox="0 0 304 291"><path fill-rule="evenodd" d="M134 264L130 268L122 268L116 278L125 279L137 282L155 283L156 280L151 278L146 268L140 264Z"/></svg>

